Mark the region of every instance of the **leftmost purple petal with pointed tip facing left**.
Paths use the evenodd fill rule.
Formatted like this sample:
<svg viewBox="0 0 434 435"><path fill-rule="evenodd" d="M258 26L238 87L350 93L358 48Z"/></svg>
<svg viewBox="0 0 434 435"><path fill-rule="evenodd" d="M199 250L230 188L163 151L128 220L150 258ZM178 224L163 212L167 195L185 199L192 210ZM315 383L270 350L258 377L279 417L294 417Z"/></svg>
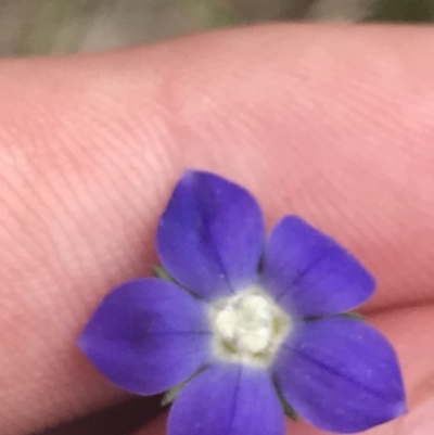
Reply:
<svg viewBox="0 0 434 435"><path fill-rule="evenodd" d="M171 283L142 279L105 297L78 344L112 382L151 395L206 363L209 342L203 302Z"/></svg>

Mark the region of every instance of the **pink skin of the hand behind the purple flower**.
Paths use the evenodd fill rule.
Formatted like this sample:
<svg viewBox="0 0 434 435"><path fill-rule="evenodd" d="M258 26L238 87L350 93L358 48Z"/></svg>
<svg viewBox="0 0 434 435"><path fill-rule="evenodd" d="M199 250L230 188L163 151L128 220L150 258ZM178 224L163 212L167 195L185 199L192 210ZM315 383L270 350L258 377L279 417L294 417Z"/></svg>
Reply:
<svg viewBox="0 0 434 435"><path fill-rule="evenodd" d="M114 285L150 273L184 167L248 188L269 227L303 216L374 273L366 311L396 346L410 412L367 433L432 434L433 43L429 27L269 25L1 61L2 435L125 398L75 340Z"/></svg>

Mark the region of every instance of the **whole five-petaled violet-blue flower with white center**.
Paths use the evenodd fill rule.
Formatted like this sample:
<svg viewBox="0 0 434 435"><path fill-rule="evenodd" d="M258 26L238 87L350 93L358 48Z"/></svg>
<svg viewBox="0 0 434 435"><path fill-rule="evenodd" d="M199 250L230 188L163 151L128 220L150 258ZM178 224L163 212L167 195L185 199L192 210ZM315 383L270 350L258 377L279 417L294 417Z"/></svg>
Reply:
<svg viewBox="0 0 434 435"><path fill-rule="evenodd" d="M331 238L286 216L266 241L248 192L187 171L156 239L173 281L115 289L79 346L129 392L178 386L169 435L283 435L288 404L341 433L406 411L392 346L342 315L372 295L374 281Z"/></svg>

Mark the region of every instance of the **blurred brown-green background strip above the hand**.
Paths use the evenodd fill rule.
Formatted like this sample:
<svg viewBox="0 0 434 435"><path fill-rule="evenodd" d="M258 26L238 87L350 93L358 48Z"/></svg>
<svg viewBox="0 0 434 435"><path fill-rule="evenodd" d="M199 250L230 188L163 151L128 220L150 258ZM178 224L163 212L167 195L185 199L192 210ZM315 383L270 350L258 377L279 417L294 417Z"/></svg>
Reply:
<svg viewBox="0 0 434 435"><path fill-rule="evenodd" d="M433 17L434 0L0 0L0 56L99 51L272 20Z"/></svg>

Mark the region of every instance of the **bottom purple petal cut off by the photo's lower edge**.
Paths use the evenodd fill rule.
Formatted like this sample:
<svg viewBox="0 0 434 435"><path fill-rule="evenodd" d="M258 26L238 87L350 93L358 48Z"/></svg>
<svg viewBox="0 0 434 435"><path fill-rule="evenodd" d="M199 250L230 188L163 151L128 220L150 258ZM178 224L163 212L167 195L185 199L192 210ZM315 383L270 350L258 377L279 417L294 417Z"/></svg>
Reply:
<svg viewBox="0 0 434 435"><path fill-rule="evenodd" d="M214 366L190 381L170 411L168 435L284 435L284 414L269 374Z"/></svg>

